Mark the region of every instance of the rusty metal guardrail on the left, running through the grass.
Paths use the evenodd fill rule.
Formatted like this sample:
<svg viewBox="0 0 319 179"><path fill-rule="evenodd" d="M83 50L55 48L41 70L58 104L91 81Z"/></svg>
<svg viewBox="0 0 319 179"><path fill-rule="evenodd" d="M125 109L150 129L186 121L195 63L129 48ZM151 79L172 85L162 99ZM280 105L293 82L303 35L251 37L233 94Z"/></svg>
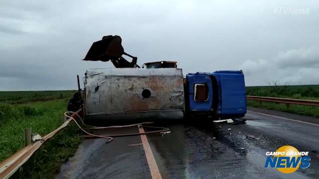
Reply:
<svg viewBox="0 0 319 179"><path fill-rule="evenodd" d="M82 109L76 111L76 113L80 113ZM72 114L72 117L76 118L76 114ZM31 156L32 154L41 147L41 145L52 138L55 134L65 128L72 119L66 120L60 127L50 132L46 136L44 136L41 140L37 140L33 144L30 144L23 149L19 150L9 158L5 159L0 163L0 179L8 179L12 176L18 169L21 167Z"/></svg>

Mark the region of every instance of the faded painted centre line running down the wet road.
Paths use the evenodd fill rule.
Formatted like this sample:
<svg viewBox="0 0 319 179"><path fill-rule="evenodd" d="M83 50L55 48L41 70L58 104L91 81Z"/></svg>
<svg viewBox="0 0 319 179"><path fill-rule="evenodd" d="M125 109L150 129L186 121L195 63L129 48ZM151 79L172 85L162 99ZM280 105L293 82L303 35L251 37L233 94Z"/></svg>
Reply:
<svg viewBox="0 0 319 179"><path fill-rule="evenodd" d="M138 128L140 133L145 133L143 127L138 127ZM148 161L148 164L150 167L152 179L161 179L160 170L158 168L158 165L156 164L148 138L144 134L144 135L141 135L141 139L142 139L142 143L143 143L143 147L145 151L146 160Z"/></svg>

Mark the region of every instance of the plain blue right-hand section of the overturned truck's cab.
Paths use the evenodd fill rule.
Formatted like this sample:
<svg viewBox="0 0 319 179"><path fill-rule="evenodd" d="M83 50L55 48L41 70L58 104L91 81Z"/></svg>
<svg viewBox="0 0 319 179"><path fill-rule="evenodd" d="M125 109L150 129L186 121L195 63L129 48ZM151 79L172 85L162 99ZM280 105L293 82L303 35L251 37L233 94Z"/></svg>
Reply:
<svg viewBox="0 0 319 179"><path fill-rule="evenodd" d="M246 89L241 71L214 72L219 76L219 94L222 115L243 116L246 113Z"/></svg>

